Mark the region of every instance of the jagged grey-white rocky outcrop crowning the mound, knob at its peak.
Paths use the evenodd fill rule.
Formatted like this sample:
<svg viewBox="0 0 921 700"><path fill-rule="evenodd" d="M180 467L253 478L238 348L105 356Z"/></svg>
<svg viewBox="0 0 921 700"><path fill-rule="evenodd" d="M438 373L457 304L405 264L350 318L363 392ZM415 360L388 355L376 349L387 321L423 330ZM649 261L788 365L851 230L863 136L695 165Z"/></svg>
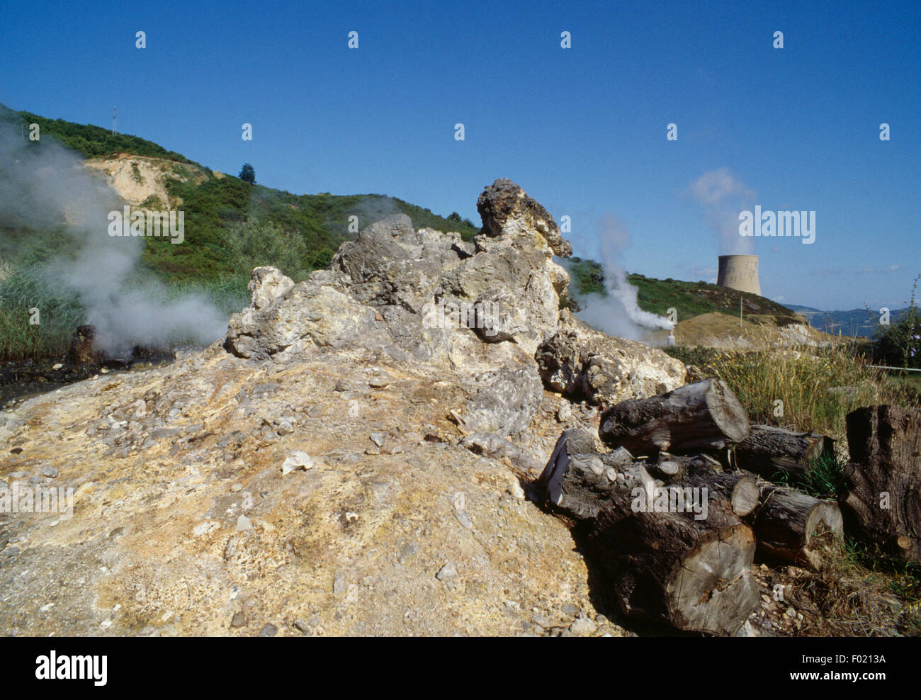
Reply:
<svg viewBox="0 0 921 700"><path fill-rule="evenodd" d="M310 345L360 342L438 361L468 356L479 339L517 344L532 356L556 332L569 276L552 255L568 255L569 243L511 181L487 187L478 206L484 228L473 244L457 233L415 230L397 214L362 230L328 270L298 285L259 268L250 307L230 321L227 349L286 362Z"/></svg>

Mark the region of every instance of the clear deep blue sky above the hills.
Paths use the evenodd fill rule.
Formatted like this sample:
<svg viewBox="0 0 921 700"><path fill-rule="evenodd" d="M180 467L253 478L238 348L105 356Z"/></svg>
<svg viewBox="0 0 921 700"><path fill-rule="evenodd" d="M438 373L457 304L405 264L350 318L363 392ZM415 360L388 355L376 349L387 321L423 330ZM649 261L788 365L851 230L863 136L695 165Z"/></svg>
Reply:
<svg viewBox="0 0 921 700"><path fill-rule="evenodd" d="M724 220L731 203L692 183L721 172L764 210L816 212L811 245L755 240L765 296L895 307L921 274L919 7L6 3L0 102L101 125L117 106L120 132L212 169L476 223L508 177L571 217L576 254L609 248L616 217L619 262L657 277L716 274L714 206Z"/></svg>

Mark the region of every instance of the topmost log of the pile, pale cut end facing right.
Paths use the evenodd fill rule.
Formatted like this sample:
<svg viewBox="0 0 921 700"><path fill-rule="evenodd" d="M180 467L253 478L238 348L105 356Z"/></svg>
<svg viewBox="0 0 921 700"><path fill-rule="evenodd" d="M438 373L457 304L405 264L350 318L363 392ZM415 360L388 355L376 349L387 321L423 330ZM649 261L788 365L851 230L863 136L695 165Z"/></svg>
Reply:
<svg viewBox="0 0 921 700"><path fill-rule="evenodd" d="M705 379L681 389L630 399L601 414L599 434L613 448L654 456L717 452L749 434L748 416L722 379Z"/></svg>

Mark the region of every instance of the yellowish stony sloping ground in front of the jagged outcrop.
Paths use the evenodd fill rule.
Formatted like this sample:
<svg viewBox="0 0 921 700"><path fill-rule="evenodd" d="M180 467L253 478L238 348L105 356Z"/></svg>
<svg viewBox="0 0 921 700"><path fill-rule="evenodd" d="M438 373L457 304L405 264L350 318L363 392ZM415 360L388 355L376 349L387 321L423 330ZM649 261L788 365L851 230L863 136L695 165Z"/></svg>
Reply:
<svg viewBox="0 0 921 700"><path fill-rule="evenodd" d="M73 486L74 512L0 520L0 628L542 634L579 610L577 630L624 634L598 620L565 524L525 498L536 472L456 444L445 407L464 400L361 353L277 367L217 345L31 399L5 416L0 478Z"/></svg>

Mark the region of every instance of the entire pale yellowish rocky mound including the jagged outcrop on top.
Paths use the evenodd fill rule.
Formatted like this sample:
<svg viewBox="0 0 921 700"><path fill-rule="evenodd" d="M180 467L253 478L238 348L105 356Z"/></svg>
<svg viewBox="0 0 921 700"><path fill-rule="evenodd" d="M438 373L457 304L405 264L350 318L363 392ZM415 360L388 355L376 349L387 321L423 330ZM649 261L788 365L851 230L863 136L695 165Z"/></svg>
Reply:
<svg viewBox="0 0 921 700"><path fill-rule="evenodd" d="M685 368L561 315L568 243L517 185L478 208L473 244L395 216L305 282L258 268L226 341L0 414L0 491L74 489L0 512L0 630L645 631L533 484L565 427ZM495 306L433 326L433 300ZM740 634L784 631L769 593Z"/></svg>

